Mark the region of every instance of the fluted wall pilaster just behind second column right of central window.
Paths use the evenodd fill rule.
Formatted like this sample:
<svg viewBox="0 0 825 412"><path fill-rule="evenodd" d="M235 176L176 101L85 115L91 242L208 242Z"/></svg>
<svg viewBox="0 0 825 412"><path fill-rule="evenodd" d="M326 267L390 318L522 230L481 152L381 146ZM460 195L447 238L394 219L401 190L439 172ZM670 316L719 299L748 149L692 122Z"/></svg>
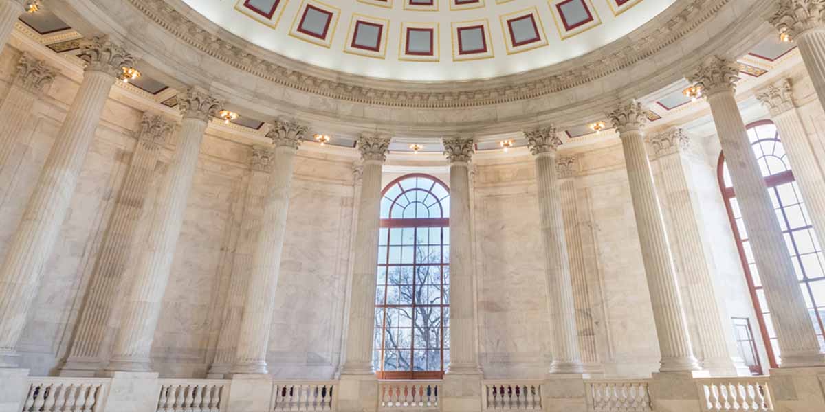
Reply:
<svg viewBox="0 0 825 412"><path fill-rule="evenodd" d="M585 240L582 230L590 230L586 221L579 218L582 200L578 198L576 176L579 166L574 156L556 158L556 176L559 179L559 203L562 209L564 239L568 246L570 280L573 285L573 307L576 311L578 347L582 353L585 372L601 372L599 349L596 340L595 316L591 293L599 294L597 284L588 279Z"/></svg>

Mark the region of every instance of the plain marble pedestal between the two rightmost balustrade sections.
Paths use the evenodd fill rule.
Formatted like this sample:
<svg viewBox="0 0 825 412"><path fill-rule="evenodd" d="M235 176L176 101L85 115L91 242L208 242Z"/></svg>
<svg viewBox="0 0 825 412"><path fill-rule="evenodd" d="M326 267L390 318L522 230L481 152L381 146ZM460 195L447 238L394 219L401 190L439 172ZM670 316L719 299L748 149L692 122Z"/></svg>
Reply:
<svg viewBox="0 0 825 412"><path fill-rule="evenodd" d="M653 410L700 412L699 391L694 379L710 377L708 371L653 372L650 397Z"/></svg>

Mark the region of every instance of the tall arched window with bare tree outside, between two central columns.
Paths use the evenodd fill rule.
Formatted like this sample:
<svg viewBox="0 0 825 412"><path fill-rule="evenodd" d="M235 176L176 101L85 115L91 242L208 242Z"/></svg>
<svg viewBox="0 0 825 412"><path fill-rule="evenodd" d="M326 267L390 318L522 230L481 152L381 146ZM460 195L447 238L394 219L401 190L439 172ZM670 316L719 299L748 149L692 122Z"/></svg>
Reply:
<svg viewBox="0 0 825 412"><path fill-rule="evenodd" d="M373 365L381 379L441 378L450 362L450 192L407 175L384 188Z"/></svg>

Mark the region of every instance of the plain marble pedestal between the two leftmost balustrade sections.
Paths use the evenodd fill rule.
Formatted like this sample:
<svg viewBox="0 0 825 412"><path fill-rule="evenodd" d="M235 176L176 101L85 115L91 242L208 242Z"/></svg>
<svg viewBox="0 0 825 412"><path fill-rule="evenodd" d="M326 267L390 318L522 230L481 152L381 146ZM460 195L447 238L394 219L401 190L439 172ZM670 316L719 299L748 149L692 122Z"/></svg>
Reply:
<svg viewBox="0 0 825 412"><path fill-rule="evenodd" d="M111 377L102 412L151 412L158 408L158 372L101 372Z"/></svg>

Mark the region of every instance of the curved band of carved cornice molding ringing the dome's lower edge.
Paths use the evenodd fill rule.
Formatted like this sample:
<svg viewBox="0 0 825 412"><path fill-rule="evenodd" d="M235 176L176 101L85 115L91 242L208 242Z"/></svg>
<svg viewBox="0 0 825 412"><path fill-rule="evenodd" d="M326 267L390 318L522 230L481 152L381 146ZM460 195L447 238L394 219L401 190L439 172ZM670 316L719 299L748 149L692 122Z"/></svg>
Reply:
<svg viewBox="0 0 825 412"><path fill-rule="evenodd" d="M234 68L285 87L367 105L459 108L534 99L609 76L643 59L648 59L667 45L680 40L715 16L731 0L686 0L684 2L686 6L681 12L674 13L674 16L664 21L657 29L652 30L648 25L642 26L638 30L646 31L634 31L634 33L645 32L646 35L633 36L631 33L629 37L636 37L637 40L604 56L598 53L588 54L587 57L580 58L581 64L566 68L560 73L554 68L538 69L535 71L536 76L530 76L534 78L526 82L516 82L515 79L522 75L512 75L510 78L514 81L506 86L488 88L468 86L463 87L464 90L455 91L404 91L368 87L354 82L342 82L301 73L293 68L287 68L250 54L247 49L210 33L178 12L175 7L167 4L165 0L128 0L128 2L150 20L201 52ZM650 33L647 33L648 31ZM539 73L546 73L546 75ZM398 82L398 84L402 83Z"/></svg>

